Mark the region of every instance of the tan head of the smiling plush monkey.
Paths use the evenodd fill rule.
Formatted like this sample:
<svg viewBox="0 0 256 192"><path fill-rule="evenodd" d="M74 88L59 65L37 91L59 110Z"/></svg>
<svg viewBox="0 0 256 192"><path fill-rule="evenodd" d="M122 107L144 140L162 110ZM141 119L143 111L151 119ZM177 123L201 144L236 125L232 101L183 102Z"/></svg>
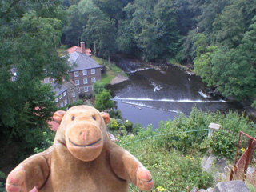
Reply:
<svg viewBox="0 0 256 192"><path fill-rule="evenodd" d="M74 106L70 110L58 110L54 113L58 122L55 142L62 142L75 158L84 162L93 161L102 152L102 147L109 139L106 123L110 115L99 113L91 106Z"/></svg>

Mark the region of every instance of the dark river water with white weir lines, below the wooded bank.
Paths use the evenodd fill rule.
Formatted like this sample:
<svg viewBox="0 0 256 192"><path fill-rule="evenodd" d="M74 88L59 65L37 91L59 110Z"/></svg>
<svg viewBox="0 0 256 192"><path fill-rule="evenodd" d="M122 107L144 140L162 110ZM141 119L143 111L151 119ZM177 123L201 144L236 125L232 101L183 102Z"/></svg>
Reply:
<svg viewBox="0 0 256 192"><path fill-rule="evenodd" d="M142 126L158 127L161 120L174 119L178 114L189 115L193 106L222 113L242 112L239 102L231 102L214 94L196 75L176 66L116 58L117 66L126 71L130 80L108 88L122 117Z"/></svg>

